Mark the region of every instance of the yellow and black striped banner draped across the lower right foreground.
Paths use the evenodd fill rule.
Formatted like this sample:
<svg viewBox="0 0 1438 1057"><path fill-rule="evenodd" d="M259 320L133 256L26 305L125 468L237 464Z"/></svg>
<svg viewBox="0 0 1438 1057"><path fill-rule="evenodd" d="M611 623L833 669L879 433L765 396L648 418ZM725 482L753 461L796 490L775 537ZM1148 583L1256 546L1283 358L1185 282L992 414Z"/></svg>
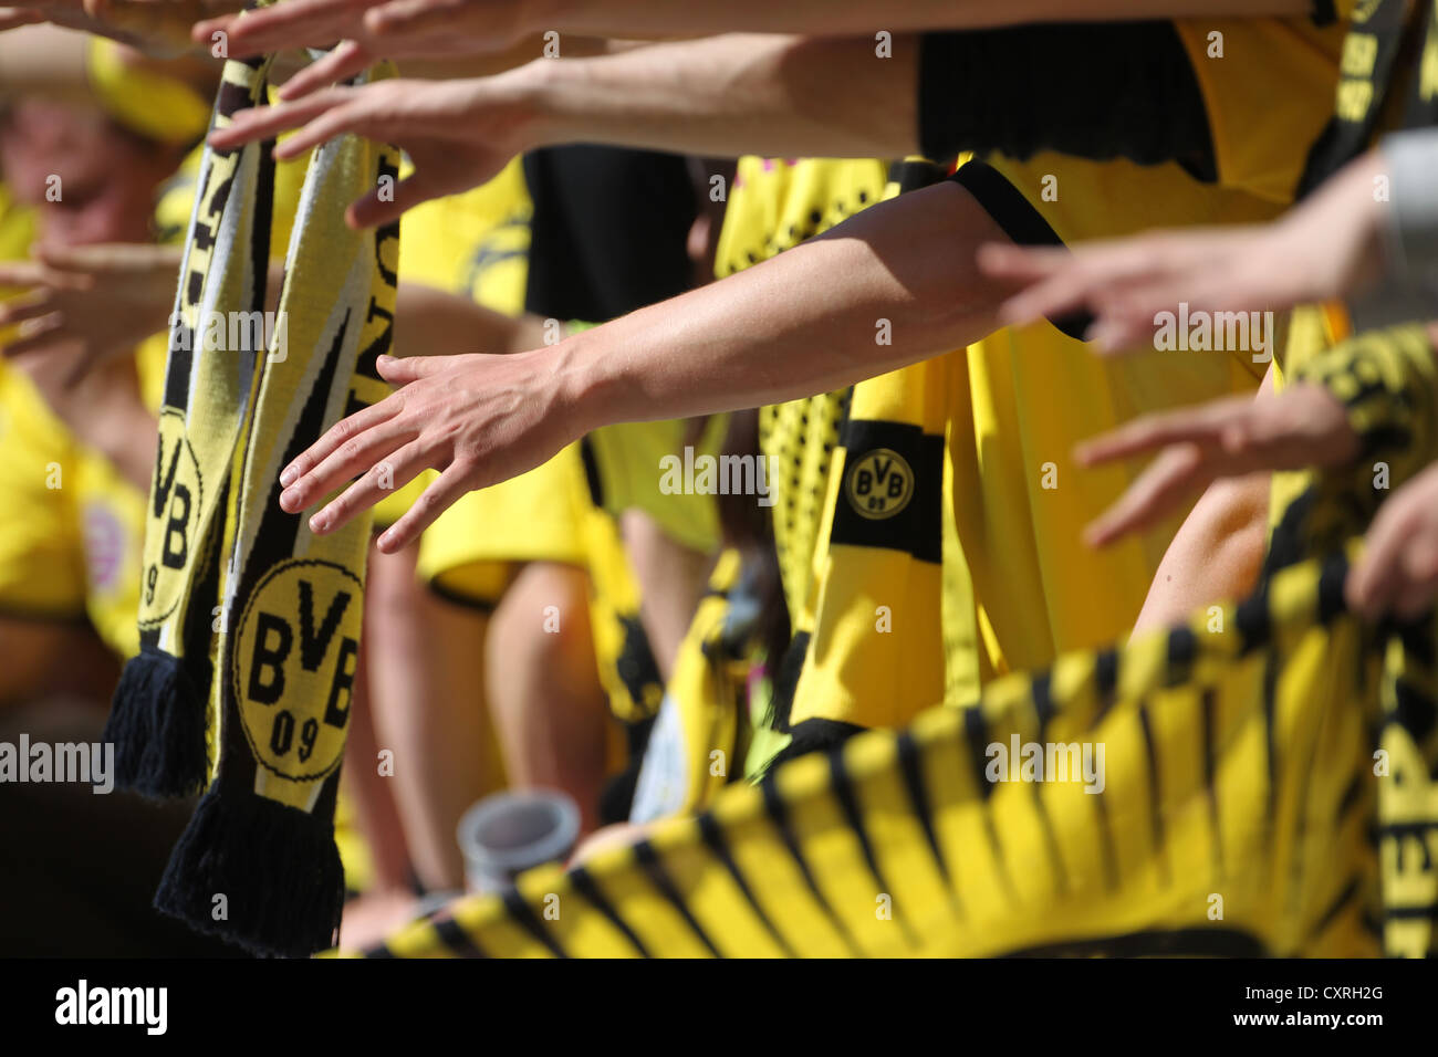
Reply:
<svg viewBox="0 0 1438 1057"><path fill-rule="evenodd" d="M1434 953L1434 624L1359 623L1346 571L794 759L367 953Z"/></svg>

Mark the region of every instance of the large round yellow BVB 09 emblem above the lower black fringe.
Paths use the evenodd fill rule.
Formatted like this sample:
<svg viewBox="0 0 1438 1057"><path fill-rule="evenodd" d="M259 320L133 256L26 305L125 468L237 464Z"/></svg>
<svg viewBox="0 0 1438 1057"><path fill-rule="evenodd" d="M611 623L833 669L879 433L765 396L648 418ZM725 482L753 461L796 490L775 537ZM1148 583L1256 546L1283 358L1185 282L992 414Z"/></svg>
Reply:
<svg viewBox="0 0 1438 1057"><path fill-rule="evenodd" d="M283 778L324 778L344 752L362 590L341 565L295 559L270 569L244 604L234 697L255 758Z"/></svg>

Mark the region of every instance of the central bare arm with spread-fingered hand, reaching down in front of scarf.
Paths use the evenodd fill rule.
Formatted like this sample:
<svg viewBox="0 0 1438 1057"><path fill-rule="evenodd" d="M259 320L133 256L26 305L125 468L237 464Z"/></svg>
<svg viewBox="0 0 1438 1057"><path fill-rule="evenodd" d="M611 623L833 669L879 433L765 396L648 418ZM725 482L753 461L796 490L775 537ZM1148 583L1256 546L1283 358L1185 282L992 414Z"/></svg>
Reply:
<svg viewBox="0 0 1438 1057"><path fill-rule="evenodd" d="M532 469L598 426L779 403L966 345L994 329L1005 292L976 273L974 247L1001 237L968 191L945 183L551 348L381 360L404 388L286 467L280 505L306 509L364 475L311 519L329 532L384 495L381 476L403 485L440 469L380 538L393 551L464 492ZM881 328L892 344L879 344Z"/></svg>

